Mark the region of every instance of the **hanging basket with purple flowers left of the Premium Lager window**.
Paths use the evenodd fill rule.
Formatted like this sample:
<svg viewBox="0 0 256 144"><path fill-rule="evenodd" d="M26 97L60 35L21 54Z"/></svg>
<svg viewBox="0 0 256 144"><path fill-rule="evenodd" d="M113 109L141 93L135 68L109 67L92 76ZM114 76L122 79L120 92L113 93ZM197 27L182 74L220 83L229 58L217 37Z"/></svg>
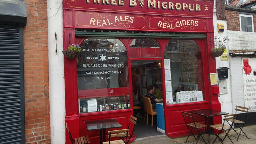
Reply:
<svg viewBox="0 0 256 144"><path fill-rule="evenodd" d="M68 49L66 49L65 51L62 51L62 52L66 58L74 59L81 52L81 47L79 46L79 44L70 44Z"/></svg>

